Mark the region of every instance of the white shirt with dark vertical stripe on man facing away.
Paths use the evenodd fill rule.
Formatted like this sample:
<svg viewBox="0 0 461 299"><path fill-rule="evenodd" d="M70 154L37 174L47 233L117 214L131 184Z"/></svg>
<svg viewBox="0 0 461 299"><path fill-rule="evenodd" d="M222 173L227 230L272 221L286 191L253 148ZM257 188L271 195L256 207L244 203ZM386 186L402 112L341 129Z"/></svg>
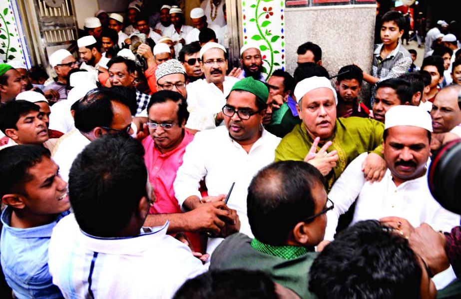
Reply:
<svg viewBox="0 0 461 299"><path fill-rule="evenodd" d="M186 280L206 271L186 245L166 234L168 222L136 237L110 239L83 233L74 214L58 224L48 267L65 298L170 299Z"/></svg>

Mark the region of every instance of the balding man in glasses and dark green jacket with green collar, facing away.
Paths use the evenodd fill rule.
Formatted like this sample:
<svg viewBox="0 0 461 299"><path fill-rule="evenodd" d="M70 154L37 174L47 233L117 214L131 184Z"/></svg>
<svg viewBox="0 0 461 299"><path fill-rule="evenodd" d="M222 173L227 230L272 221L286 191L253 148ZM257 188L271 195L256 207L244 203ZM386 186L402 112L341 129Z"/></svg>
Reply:
<svg viewBox="0 0 461 299"><path fill-rule="evenodd" d="M251 181L246 204L254 238L242 233L226 238L213 252L210 271L262 271L299 297L313 298L307 285L314 247L334 207L322 174L303 161L272 163Z"/></svg>

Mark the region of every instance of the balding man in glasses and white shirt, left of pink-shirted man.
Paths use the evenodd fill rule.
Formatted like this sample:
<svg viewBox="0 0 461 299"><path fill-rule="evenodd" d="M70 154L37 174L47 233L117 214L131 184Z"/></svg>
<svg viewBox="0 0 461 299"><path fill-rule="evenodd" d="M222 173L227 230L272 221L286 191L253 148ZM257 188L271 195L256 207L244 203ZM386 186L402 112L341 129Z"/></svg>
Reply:
<svg viewBox="0 0 461 299"><path fill-rule="evenodd" d="M131 115L134 107L119 88L90 90L74 104L76 130L64 135L51 153L64 181L68 181L70 166L75 157L91 141L105 134L133 133Z"/></svg>

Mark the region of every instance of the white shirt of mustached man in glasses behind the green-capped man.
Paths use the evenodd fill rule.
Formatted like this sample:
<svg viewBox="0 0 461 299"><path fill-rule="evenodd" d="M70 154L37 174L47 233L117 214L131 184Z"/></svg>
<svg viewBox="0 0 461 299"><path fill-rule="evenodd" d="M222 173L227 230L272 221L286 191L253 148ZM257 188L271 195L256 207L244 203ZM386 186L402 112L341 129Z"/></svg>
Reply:
<svg viewBox="0 0 461 299"><path fill-rule="evenodd" d="M235 77L226 76L223 82L224 92L206 79L187 84L187 110L190 115L186 128L199 131L216 128L214 114L222 111L226 96L238 81Z"/></svg>

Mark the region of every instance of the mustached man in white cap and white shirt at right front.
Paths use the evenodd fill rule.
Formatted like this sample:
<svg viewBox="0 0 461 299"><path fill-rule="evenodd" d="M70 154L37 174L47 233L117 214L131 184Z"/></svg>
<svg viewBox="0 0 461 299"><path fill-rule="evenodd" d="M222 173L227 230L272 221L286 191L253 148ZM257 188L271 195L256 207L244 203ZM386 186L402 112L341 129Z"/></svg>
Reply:
<svg viewBox="0 0 461 299"><path fill-rule="evenodd" d="M319 250L333 240L339 216L354 202L356 208L351 224L368 219L381 220L402 236L409 236L411 227L419 227L422 223L446 232L459 225L460 216L444 209L429 191L427 165L431 155L431 132L431 116L424 109L398 105L386 112L383 153L387 170L384 178L373 184L365 181L362 163L368 153L359 155L349 164L328 195L335 202L335 208L327 213L326 241L318 246ZM439 289L449 282L447 277L445 281L435 278Z"/></svg>

